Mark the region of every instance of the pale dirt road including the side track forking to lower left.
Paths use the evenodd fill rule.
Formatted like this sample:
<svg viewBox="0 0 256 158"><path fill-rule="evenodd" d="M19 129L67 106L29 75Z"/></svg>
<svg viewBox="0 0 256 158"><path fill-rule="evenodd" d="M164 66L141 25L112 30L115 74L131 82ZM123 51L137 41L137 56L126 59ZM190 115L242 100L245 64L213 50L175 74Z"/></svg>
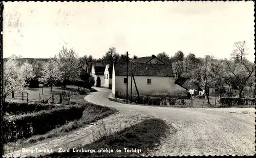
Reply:
<svg viewBox="0 0 256 158"><path fill-rule="evenodd" d="M95 89L99 92L92 93L84 99L119 110L118 114L103 119L106 127L114 127L118 130L121 122L122 128L124 128L125 121L138 115L140 121L147 116L161 118L177 130L164 139L161 146L156 151L152 151L151 155L255 154L254 108L194 109L129 105L110 101L108 99L111 92L109 89ZM27 151L14 151L13 157L45 154L31 153L28 149L47 147L58 151L60 147L74 147L91 143L92 131L97 131L100 122L102 120L98 121L96 125L70 132L65 137L58 137L48 142L38 142L36 145L26 148ZM6 156L12 156L12 153Z"/></svg>

